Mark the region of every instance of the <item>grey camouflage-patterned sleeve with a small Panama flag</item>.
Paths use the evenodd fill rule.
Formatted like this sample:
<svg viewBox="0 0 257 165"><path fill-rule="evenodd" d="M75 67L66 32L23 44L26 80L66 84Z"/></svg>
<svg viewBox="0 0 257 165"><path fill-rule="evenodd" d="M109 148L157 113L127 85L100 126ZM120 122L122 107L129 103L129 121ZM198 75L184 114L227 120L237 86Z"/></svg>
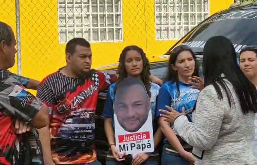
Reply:
<svg viewBox="0 0 257 165"><path fill-rule="evenodd" d="M28 92L14 76L2 79L0 84L0 104L4 107L6 113L26 123L30 122L43 106L43 103Z"/></svg>

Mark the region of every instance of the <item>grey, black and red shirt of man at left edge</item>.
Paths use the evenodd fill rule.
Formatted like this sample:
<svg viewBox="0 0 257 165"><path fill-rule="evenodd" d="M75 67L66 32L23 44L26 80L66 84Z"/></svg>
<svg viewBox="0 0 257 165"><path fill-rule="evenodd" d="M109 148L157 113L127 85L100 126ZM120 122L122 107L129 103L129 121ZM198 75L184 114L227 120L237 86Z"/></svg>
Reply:
<svg viewBox="0 0 257 165"><path fill-rule="evenodd" d="M0 164L14 164L19 154L15 119L30 122L43 104L25 89L28 78L0 69L0 81Z"/></svg>

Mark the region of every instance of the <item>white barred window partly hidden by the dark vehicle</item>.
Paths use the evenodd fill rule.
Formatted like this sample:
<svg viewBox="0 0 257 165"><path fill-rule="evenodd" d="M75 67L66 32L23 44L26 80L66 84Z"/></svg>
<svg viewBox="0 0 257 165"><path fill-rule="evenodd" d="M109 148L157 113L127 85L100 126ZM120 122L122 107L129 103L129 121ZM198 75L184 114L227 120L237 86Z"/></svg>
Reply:
<svg viewBox="0 0 257 165"><path fill-rule="evenodd" d="M155 38L180 39L209 12L209 0L155 0Z"/></svg>

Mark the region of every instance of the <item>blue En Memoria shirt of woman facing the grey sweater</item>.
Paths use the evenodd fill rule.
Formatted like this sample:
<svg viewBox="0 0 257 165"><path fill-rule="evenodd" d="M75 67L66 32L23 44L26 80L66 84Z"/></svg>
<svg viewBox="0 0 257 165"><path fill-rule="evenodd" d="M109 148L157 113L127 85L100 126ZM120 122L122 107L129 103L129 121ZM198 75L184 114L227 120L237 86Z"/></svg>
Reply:
<svg viewBox="0 0 257 165"><path fill-rule="evenodd" d="M191 85L187 85L183 82L179 82L179 91L177 89L176 83L174 81L165 82L159 91L159 96L157 99L157 109L168 110L165 106L171 106L178 112L182 112L182 107L185 107L187 118L192 122L192 110L195 106L196 100L198 98L200 91L198 89L192 89ZM160 116L160 112L157 111L156 117ZM171 125L171 128L173 126ZM179 141L182 146L188 150L192 150L192 146L188 145L180 137ZM175 149L170 145L167 138L164 138L164 146L168 148L169 151L177 153Z"/></svg>

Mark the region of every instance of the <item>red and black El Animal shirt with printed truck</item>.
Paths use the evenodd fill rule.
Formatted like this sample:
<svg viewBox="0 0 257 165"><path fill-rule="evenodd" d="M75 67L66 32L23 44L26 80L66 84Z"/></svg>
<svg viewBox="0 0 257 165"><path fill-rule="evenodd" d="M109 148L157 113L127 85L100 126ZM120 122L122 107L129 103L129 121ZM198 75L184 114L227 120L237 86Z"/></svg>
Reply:
<svg viewBox="0 0 257 165"><path fill-rule="evenodd" d="M96 70L87 77L71 78L59 70L42 80L37 96L50 108L55 164L90 163L97 159L94 131L98 93L116 79L116 75Z"/></svg>

